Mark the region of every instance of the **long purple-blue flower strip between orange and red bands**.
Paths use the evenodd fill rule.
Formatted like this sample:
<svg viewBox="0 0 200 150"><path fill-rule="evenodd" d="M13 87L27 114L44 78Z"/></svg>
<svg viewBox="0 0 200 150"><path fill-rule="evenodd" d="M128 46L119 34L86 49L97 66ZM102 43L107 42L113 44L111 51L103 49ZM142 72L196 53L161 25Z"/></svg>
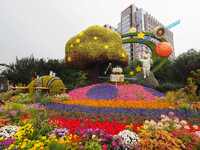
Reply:
<svg viewBox="0 0 200 150"><path fill-rule="evenodd" d="M99 113L99 114L129 114L129 115L141 115L146 117L159 117L161 114L168 114L170 111L174 111L177 116L191 117L192 115L200 115L200 112L185 111L179 109L125 109L125 108L105 108L105 107L89 107L81 105L65 105L58 103L49 103L46 108L57 111L65 112L85 112L85 113Z"/></svg>

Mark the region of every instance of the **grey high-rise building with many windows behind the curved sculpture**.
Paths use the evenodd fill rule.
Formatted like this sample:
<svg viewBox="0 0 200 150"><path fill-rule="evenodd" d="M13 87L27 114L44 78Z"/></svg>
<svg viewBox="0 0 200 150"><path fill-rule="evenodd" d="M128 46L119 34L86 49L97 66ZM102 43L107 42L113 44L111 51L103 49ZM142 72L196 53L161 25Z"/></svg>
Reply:
<svg viewBox="0 0 200 150"><path fill-rule="evenodd" d="M135 28L137 32L152 31L157 26L163 26L157 19L151 16L148 12L145 12L142 8L137 8L134 4L126 8L121 12L121 21L118 24L118 32L125 34L129 32L131 28ZM165 38L174 47L173 33L170 30L166 30ZM148 47L139 43L124 44L124 48L127 50L129 60L137 58L140 51L147 49ZM171 55L171 58L174 54Z"/></svg>

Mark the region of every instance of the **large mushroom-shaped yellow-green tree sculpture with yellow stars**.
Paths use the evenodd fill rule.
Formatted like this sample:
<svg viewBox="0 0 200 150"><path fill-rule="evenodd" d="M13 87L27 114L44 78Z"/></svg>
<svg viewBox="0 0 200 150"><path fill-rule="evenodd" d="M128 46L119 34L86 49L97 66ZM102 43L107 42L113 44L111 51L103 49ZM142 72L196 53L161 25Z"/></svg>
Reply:
<svg viewBox="0 0 200 150"><path fill-rule="evenodd" d="M66 44L65 53L66 63L86 70L93 81L110 62L121 66L128 64L120 35L101 26L91 26L72 37Z"/></svg>

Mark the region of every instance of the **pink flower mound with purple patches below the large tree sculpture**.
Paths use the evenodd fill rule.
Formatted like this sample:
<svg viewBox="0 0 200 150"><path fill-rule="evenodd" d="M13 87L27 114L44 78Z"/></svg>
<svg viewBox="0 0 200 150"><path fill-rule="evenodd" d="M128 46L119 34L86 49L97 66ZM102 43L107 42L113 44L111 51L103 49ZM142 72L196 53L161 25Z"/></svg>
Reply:
<svg viewBox="0 0 200 150"><path fill-rule="evenodd" d="M162 93L137 84L93 84L69 92L71 100L112 99L112 100L155 100Z"/></svg>

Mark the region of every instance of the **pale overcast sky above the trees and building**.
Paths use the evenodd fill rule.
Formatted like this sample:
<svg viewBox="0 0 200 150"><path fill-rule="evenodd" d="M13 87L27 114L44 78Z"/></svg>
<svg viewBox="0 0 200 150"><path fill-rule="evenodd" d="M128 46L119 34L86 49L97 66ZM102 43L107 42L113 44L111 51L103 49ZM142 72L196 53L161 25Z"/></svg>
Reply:
<svg viewBox="0 0 200 150"><path fill-rule="evenodd" d="M181 20L172 29L176 56L200 49L200 2L195 0L0 0L0 63L31 54L62 59L70 37L90 25L116 27L121 11L132 3L165 25Z"/></svg>

